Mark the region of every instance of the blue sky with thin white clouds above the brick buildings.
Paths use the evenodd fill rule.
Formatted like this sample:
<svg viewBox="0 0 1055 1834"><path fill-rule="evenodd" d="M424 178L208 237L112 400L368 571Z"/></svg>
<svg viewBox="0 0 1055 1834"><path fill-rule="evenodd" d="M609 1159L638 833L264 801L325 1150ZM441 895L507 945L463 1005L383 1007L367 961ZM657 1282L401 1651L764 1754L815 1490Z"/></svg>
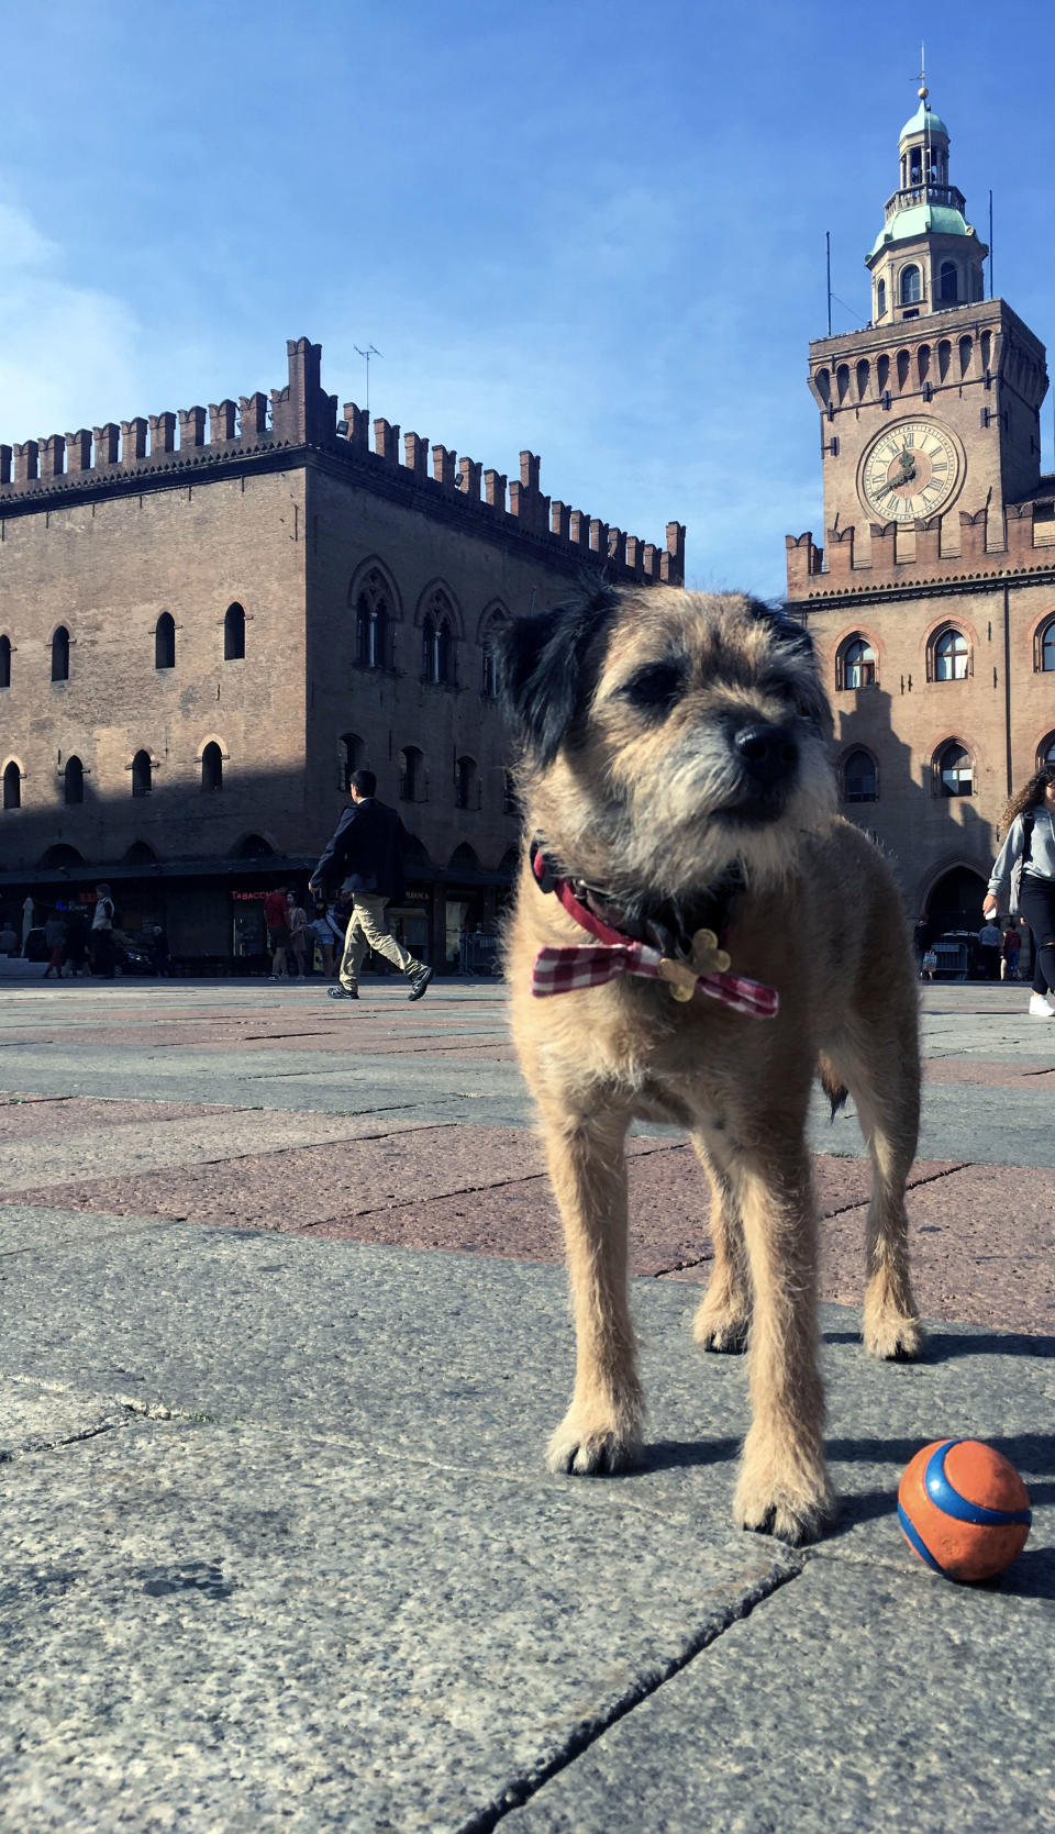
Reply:
<svg viewBox="0 0 1055 1834"><path fill-rule="evenodd" d="M912 15L908 18L908 15ZM820 539L807 343L916 110L994 279L1055 337L1055 24L980 0L0 0L0 438L250 394L286 337L371 413L783 589ZM844 304L842 304L844 303ZM1053 468L1051 405L1042 411Z"/></svg>

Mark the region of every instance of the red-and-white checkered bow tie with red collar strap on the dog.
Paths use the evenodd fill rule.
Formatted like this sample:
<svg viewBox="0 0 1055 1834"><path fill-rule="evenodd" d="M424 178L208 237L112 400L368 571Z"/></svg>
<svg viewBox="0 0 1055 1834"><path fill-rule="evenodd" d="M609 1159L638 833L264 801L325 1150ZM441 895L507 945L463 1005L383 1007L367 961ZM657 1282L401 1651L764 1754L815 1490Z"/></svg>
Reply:
<svg viewBox="0 0 1055 1834"><path fill-rule="evenodd" d="M567 913L598 939L539 948L532 968L536 1000L578 992L583 987L604 987L605 981L615 981L622 974L639 974L646 979L666 981L675 1000L692 1000L699 992L732 1007L734 1012L749 1012L758 1020L776 1018L780 1009L776 989L750 981L743 974L730 974L728 956L717 946L714 930L697 930L692 961L672 961L650 943L635 943L604 924L585 904L580 904L567 878L550 880L541 851L532 866L543 889L556 891Z"/></svg>

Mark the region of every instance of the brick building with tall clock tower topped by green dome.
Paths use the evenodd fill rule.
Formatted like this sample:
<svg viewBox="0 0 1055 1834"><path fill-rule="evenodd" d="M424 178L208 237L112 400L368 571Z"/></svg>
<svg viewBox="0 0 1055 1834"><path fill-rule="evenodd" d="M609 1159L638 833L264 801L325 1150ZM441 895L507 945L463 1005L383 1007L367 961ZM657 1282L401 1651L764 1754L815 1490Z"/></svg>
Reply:
<svg viewBox="0 0 1055 1834"><path fill-rule="evenodd" d="M983 297L925 88L897 160L872 323L809 347L826 543L787 537L787 596L827 675L844 812L938 934L978 930L1007 794L1055 759L1055 477L1044 347Z"/></svg>

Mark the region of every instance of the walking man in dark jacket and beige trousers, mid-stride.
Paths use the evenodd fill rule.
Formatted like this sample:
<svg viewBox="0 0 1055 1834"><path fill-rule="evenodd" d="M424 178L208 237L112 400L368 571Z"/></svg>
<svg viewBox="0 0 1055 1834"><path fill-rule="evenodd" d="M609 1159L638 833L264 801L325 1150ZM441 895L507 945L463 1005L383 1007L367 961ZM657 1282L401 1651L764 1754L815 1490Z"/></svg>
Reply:
<svg viewBox="0 0 1055 1834"><path fill-rule="evenodd" d="M396 943L385 924L385 904L404 891L404 847L407 831L394 809L374 796L378 779L372 770L352 770L349 779L350 809L345 809L338 829L316 866L310 891L341 871L341 897L350 900L352 915L345 934L345 948L338 968L338 987L327 989L330 1000L360 998L360 967L367 948L385 956L407 976L407 1000L420 1000L433 970L415 961L409 950Z"/></svg>

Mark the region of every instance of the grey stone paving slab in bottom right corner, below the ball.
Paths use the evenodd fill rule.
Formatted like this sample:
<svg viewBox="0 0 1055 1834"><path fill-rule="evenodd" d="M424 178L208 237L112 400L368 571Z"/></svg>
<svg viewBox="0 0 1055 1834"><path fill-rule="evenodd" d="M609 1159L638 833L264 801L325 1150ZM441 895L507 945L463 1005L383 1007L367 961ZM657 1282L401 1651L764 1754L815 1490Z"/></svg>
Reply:
<svg viewBox="0 0 1055 1834"><path fill-rule="evenodd" d="M1055 1610L1042 1614L1038 1636L1027 1594L807 1561L503 1828L1051 1828Z"/></svg>

